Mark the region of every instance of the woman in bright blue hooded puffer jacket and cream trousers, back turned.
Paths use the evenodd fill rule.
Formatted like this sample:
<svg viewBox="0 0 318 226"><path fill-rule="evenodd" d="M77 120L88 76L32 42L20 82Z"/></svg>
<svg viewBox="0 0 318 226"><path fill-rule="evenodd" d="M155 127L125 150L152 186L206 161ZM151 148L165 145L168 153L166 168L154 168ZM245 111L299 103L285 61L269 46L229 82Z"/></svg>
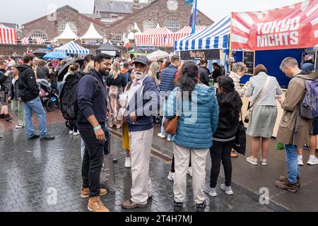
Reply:
<svg viewBox="0 0 318 226"><path fill-rule="evenodd" d="M213 145L212 137L218 126L218 102L214 88L199 84L199 69L194 63L182 67L178 83L163 111L167 119L177 115L177 105L180 112L177 134L172 136L175 155L174 210L182 210L191 157L196 210L204 211L206 156Z"/></svg>

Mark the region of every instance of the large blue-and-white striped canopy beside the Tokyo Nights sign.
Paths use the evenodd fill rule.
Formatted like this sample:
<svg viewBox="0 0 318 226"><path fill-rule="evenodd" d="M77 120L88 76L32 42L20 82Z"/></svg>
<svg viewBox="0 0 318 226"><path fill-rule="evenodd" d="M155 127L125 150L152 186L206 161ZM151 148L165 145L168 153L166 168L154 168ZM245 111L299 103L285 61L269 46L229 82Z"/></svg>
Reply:
<svg viewBox="0 0 318 226"><path fill-rule="evenodd" d="M227 16L201 32L177 40L175 41L175 51L228 49L230 24L231 18Z"/></svg>

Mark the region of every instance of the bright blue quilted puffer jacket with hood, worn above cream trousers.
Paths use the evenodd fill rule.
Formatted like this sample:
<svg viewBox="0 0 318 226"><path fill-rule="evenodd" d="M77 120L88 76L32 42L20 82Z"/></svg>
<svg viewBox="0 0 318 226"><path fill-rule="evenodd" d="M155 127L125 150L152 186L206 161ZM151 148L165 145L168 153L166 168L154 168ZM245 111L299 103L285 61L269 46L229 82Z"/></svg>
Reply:
<svg viewBox="0 0 318 226"><path fill-rule="evenodd" d="M176 115L177 90L179 88L173 90L165 103L163 112L167 119L172 119ZM219 115L215 90L198 84L195 86L192 96L192 102L182 102L182 114L179 117L177 134L172 136L172 141L186 148L211 148ZM189 103L192 103L192 106Z"/></svg>

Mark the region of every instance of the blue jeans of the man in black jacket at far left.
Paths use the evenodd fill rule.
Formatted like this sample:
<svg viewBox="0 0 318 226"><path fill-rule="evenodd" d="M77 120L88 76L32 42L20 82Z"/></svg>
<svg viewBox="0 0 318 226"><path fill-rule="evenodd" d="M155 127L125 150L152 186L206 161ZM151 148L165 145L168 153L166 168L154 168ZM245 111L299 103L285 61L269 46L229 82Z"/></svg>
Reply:
<svg viewBox="0 0 318 226"><path fill-rule="evenodd" d="M40 97L37 97L29 102L23 102L23 107L25 110L25 126L27 137L31 138L35 135L32 123L33 112L37 114L37 119L40 123L40 138L47 136L46 113L45 109L42 107Z"/></svg>

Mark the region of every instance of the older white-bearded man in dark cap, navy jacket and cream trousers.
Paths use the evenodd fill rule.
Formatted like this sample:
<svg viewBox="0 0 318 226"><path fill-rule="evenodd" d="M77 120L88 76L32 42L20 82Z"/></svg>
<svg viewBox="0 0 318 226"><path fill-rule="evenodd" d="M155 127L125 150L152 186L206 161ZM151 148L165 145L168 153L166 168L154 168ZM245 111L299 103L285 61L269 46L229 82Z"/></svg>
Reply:
<svg viewBox="0 0 318 226"><path fill-rule="evenodd" d="M160 108L160 94L152 78L147 76L150 62L137 57L134 62L134 82L127 97L126 122L129 127L131 151L131 199L122 202L125 209L144 208L152 198L149 162L153 142L153 115Z"/></svg>

